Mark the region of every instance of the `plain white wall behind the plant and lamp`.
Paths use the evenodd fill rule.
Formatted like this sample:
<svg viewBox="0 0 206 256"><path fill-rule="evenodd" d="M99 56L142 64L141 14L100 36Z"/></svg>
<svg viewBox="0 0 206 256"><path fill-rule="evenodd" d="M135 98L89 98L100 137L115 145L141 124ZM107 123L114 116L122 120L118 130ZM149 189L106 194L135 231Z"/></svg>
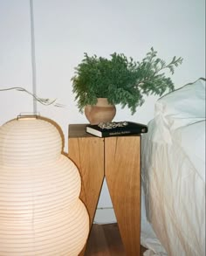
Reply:
<svg viewBox="0 0 206 256"><path fill-rule="evenodd" d="M52 118L63 129L65 151L70 123L87 122L79 114L71 78L83 53L108 57L123 52L141 60L154 47L162 59L181 56L175 70L175 86L205 77L204 0L34 0L34 23L38 96L58 98L64 108L38 104L40 114ZM31 31L29 0L0 0L0 88L24 86L32 90ZM148 123L154 115L154 101L133 116L117 107L114 121ZM21 112L32 112L31 96L0 92L0 124ZM100 207L110 207L106 184ZM111 218L100 221L111 221Z"/></svg>

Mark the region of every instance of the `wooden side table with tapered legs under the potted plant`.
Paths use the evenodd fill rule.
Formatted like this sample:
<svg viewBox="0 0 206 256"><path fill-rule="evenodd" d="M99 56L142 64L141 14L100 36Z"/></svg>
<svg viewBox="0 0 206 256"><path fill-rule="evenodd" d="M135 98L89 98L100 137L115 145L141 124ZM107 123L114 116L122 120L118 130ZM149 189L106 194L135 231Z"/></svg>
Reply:
<svg viewBox="0 0 206 256"><path fill-rule="evenodd" d="M140 255L141 136L99 138L86 133L86 124L69 125L68 156L82 178L80 198L86 204L90 227L106 183L127 256ZM85 249L79 255L84 255Z"/></svg>

